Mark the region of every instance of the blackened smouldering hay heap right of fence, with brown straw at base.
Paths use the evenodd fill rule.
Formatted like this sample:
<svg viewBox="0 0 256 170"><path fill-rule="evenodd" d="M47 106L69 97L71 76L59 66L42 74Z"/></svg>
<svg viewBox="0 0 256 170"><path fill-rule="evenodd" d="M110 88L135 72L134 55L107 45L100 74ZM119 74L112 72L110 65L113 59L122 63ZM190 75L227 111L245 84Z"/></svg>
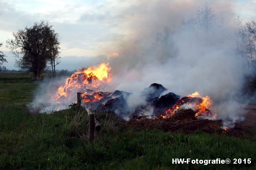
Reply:
<svg viewBox="0 0 256 170"><path fill-rule="evenodd" d="M151 84L140 93L146 103L137 106L132 112L127 102L127 98L131 94L124 91L95 92L91 95L85 95L83 99L90 106L95 106L98 111L113 111L122 119L136 119L139 125L143 122L146 127L154 122L152 127L159 126L165 130L183 129L186 131L208 128L206 131L210 131L211 128L205 125L204 128L198 126L201 126L201 122L206 125L210 123L212 126L217 125L216 121L202 119L203 116L211 116L212 114L207 108L208 104L211 104L210 99L200 96L197 92L181 99L174 93L160 96L166 90L163 85ZM197 119L198 117L201 119ZM154 120L149 120L153 118ZM148 120L145 121L145 119ZM221 122L218 124L218 128L221 128L221 124ZM215 126L213 131L218 128Z"/></svg>

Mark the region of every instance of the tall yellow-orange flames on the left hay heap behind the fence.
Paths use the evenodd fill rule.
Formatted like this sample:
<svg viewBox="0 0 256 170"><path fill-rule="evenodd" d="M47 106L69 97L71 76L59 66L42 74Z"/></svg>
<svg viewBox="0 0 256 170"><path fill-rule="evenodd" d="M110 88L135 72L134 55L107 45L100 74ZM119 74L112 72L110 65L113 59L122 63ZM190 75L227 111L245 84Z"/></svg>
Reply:
<svg viewBox="0 0 256 170"><path fill-rule="evenodd" d="M66 79L65 85L58 88L58 92L53 98L57 99L57 103L59 103L59 100L65 99L72 92L82 91L83 95L92 94L92 91L97 90L99 85L111 81L109 74L111 68L108 65L109 63L102 63L99 66L77 71Z"/></svg>

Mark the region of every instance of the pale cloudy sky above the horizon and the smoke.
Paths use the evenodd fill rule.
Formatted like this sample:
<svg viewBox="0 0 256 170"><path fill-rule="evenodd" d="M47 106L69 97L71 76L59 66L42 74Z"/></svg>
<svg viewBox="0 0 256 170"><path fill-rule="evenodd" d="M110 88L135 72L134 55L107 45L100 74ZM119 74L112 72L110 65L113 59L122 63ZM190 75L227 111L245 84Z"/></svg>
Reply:
<svg viewBox="0 0 256 170"><path fill-rule="evenodd" d="M61 36L57 69L75 70L95 65L99 58L107 61L111 53L122 55L120 46L129 48L130 40L138 46L151 42L163 26L180 25L204 3L225 15L228 24L237 15L244 22L256 20L256 0L0 0L0 51L7 56L6 68L17 69L6 40L13 31L48 21ZM169 11L161 10L166 6Z"/></svg>

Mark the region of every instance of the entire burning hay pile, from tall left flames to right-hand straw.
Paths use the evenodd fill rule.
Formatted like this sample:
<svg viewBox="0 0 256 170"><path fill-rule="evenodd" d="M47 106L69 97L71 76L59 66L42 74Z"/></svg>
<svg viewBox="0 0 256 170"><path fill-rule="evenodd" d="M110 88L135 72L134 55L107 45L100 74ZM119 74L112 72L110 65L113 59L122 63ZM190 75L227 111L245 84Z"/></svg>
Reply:
<svg viewBox="0 0 256 170"><path fill-rule="evenodd" d="M66 85L58 88L58 93L55 95L56 103L61 103L73 92L81 91L83 104L90 109L113 111L125 120L139 119L136 121L138 125L144 122L146 127L153 122L152 127L157 126L166 130L196 130L202 129L202 122L205 124L204 128L207 128L208 124L216 124L216 121L206 120L215 119L215 115L209 111L212 100L209 96L201 96L198 92L180 99L180 96L174 93L164 94L167 89L157 83L151 84L138 94L125 91L113 93L97 91L101 84L111 80L108 75L110 70L108 63L102 63L98 67L74 73L67 79ZM133 98L134 96L136 97ZM134 99L140 100L139 104L136 104L136 101L132 101L131 104L131 100ZM204 119L197 119L199 117Z"/></svg>

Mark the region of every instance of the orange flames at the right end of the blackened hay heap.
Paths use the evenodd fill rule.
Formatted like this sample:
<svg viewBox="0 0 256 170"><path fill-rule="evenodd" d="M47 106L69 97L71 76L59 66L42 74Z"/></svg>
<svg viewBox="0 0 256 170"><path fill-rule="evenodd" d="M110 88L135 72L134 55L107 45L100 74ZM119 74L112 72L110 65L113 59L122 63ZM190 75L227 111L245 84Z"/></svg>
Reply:
<svg viewBox="0 0 256 170"><path fill-rule="evenodd" d="M169 118L170 116L175 114L178 109L190 108L197 112L195 114L195 117L209 116L216 118L217 114L213 114L209 111L209 109L212 109L212 104L212 99L210 99L209 96L201 96L201 94L198 91L196 91L195 93L189 94L188 96L185 96L182 99L180 99L180 101L173 105L172 108L166 110L166 116L161 115L161 117Z"/></svg>

